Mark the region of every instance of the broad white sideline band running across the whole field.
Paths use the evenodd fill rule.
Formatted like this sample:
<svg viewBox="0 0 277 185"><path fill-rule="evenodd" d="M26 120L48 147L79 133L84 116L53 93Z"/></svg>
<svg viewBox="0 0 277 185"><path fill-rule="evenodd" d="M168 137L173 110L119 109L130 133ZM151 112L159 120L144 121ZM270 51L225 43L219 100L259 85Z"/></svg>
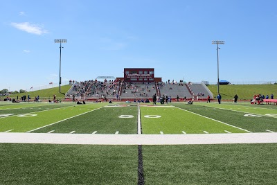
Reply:
<svg viewBox="0 0 277 185"><path fill-rule="evenodd" d="M81 145L277 143L277 132L243 134L47 134L0 132L0 143Z"/></svg>

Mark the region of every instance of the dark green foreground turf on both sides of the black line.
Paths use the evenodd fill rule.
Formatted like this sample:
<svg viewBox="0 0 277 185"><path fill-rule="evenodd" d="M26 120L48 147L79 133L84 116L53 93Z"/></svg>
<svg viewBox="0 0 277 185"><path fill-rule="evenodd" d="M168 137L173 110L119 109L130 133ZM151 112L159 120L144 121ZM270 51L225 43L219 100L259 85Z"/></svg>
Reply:
<svg viewBox="0 0 277 185"><path fill-rule="evenodd" d="M0 143L0 184L137 184L137 146ZM276 184L276 143L143 146L145 184Z"/></svg>

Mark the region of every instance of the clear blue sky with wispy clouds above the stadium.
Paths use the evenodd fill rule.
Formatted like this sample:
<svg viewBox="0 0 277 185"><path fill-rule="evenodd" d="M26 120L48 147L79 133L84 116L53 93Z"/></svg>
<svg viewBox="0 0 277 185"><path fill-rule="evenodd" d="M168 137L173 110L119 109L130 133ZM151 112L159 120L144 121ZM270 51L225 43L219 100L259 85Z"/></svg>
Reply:
<svg viewBox="0 0 277 185"><path fill-rule="evenodd" d="M123 77L154 68L163 81L276 81L277 1L0 1L0 89Z"/></svg>

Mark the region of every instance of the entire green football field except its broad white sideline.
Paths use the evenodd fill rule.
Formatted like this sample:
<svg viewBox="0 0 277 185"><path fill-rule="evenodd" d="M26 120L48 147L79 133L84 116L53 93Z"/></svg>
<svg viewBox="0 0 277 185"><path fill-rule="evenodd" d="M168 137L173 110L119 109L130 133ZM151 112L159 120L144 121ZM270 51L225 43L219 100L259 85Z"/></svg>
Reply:
<svg viewBox="0 0 277 185"><path fill-rule="evenodd" d="M236 136L277 132L277 106L1 103L2 136ZM1 134L1 133L0 133ZM217 134L217 135L216 135ZM224 135L222 135L224 134ZM65 137L65 139L66 139ZM19 139L20 140L20 139ZM153 141L152 141L153 142ZM0 143L0 184L276 184L276 143ZM212 178L211 178L212 177Z"/></svg>

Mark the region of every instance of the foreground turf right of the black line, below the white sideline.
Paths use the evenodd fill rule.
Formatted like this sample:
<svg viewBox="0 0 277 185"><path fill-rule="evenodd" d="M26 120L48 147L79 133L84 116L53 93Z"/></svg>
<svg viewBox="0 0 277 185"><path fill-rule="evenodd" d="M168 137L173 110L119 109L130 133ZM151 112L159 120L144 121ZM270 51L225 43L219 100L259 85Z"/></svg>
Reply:
<svg viewBox="0 0 277 185"><path fill-rule="evenodd" d="M277 145L143 146L145 184L276 184Z"/></svg>

